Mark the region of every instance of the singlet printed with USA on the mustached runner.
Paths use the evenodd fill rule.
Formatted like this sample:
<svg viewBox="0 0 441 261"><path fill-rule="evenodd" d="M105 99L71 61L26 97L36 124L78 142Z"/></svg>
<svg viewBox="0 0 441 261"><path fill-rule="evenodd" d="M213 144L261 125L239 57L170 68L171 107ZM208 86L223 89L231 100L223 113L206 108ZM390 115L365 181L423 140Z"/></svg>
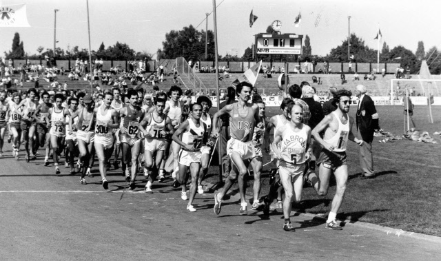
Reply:
<svg viewBox="0 0 441 261"><path fill-rule="evenodd" d="M229 133L232 138L244 143L252 140L254 133L254 111L252 107L246 107L243 115L240 115L238 103L234 103L233 116L229 117Z"/></svg>

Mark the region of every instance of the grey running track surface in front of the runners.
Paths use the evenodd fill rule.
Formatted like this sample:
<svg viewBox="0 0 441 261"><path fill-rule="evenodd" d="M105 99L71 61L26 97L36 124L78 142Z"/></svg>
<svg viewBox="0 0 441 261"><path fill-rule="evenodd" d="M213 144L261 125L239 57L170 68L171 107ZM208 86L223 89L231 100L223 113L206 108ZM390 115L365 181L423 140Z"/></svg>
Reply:
<svg viewBox="0 0 441 261"><path fill-rule="evenodd" d="M81 185L68 169L54 176L54 167L42 163L41 156L31 163L0 158L3 260L439 260L441 254L440 242L356 225L332 231L306 215L293 216L296 231L285 232L280 213L238 216L235 198L216 216L213 194L197 195L198 211L189 213L170 181L155 183L154 194L144 194L139 181L120 201L126 182L115 171L105 192L98 176Z"/></svg>

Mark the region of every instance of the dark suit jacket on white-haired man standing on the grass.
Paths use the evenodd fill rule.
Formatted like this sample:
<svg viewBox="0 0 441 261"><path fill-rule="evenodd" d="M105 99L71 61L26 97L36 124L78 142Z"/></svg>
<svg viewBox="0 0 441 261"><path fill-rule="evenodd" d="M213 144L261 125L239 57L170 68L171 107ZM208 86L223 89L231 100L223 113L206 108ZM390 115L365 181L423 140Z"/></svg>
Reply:
<svg viewBox="0 0 441 261"><path fill-rule="evenodd" d="M360 102L360 108L357 109L357 129L360 131L361 137L368 143L373 140L374 129L379 129L378 118L373 119L372 115L377 113L375 104L373 103L371 97L363 96Z"/></svg>

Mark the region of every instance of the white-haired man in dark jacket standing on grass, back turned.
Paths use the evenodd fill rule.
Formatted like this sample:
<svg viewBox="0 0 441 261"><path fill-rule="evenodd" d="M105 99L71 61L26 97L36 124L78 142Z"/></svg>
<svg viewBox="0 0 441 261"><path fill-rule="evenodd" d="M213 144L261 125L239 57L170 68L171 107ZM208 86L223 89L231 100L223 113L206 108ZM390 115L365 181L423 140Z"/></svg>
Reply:
<svg viewBox="0 0 441 261"><path fill-rule="evenodd" d="M374 129L378 127L378 113L371 97L367 96L364 85L357 85L358 109L356 115L358 136L364 141L360 147L361 178L373 178L372 140Z"/></svg>

